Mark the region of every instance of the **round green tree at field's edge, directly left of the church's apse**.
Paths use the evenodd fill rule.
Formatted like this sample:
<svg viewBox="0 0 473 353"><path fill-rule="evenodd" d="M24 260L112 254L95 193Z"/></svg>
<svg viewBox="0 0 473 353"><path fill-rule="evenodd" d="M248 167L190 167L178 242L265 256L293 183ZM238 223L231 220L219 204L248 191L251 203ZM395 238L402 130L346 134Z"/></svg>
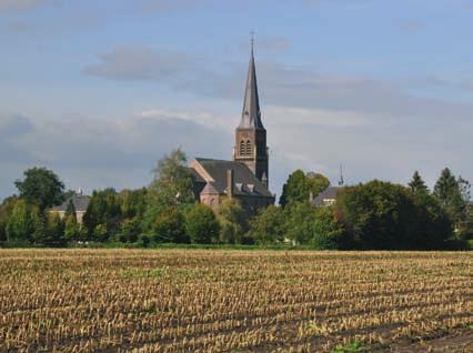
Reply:
<svg viewBox="0 0 473 353"><path fill-rule="evenodd" d="M211 208L195 203L185 212L185 230L192 243L210 244L219 239L220 223Z"/></svg>

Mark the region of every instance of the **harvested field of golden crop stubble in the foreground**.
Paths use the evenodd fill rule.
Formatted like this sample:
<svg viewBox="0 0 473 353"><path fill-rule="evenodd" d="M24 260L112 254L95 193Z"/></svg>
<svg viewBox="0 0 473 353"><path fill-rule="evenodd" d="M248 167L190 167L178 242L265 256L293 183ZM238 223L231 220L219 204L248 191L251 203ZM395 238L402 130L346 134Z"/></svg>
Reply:
<svg viewBox="0 0 473 353"><path fill-rule="evenodd" d="M2 250L0 351L471 352L472 270L465 252Z"/></svg>

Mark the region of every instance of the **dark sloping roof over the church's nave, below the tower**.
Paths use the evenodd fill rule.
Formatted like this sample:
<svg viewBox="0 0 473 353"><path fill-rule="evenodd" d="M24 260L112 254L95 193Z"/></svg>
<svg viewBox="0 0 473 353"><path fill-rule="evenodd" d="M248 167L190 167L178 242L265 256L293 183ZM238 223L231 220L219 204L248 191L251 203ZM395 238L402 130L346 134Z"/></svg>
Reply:
<svg viewBox="0 0 473 353"><path fill-rule="evenodd" d="M234 161L222 161L204 158L195 158L195 162L203 168L212 180L208 180L205 188L212 186L220 194L227 193L228 171L233 170L234 185L233 194L246 196L273 198L271 192L251 172L246 164ZM202 175L203 176L203 175ZM205 178L205 176L203 176ZM205 189L204 189L205 190Z"/></svg>

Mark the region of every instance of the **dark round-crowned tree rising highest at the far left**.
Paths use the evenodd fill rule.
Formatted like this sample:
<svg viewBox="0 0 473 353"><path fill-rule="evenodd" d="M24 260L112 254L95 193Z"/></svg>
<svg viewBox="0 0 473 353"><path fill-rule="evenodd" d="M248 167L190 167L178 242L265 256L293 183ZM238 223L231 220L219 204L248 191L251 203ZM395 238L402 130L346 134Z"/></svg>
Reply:
<svg viewBox="0 0 473 353"><path fill-rule="evenodd" d="M53 171L34 167L26 170L23 175L22 181L14 182L20 196L29 203L37 204L41 212L64 200L64 184Z"/></svg>

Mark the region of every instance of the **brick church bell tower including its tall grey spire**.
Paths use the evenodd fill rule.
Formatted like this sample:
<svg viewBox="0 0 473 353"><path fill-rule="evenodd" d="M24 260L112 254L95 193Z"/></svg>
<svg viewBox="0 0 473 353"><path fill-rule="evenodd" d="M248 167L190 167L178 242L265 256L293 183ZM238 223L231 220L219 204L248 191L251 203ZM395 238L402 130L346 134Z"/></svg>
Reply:
<svg viewBox="0 0 473 353"><path fill-rule="evenodd" d="M253 38L251 39L251 54L244 91L243 111L240 124L235 130L233 161L246 164L254 175L268 188L266 130L261 122L256 70L253 56Z"/></svg>

